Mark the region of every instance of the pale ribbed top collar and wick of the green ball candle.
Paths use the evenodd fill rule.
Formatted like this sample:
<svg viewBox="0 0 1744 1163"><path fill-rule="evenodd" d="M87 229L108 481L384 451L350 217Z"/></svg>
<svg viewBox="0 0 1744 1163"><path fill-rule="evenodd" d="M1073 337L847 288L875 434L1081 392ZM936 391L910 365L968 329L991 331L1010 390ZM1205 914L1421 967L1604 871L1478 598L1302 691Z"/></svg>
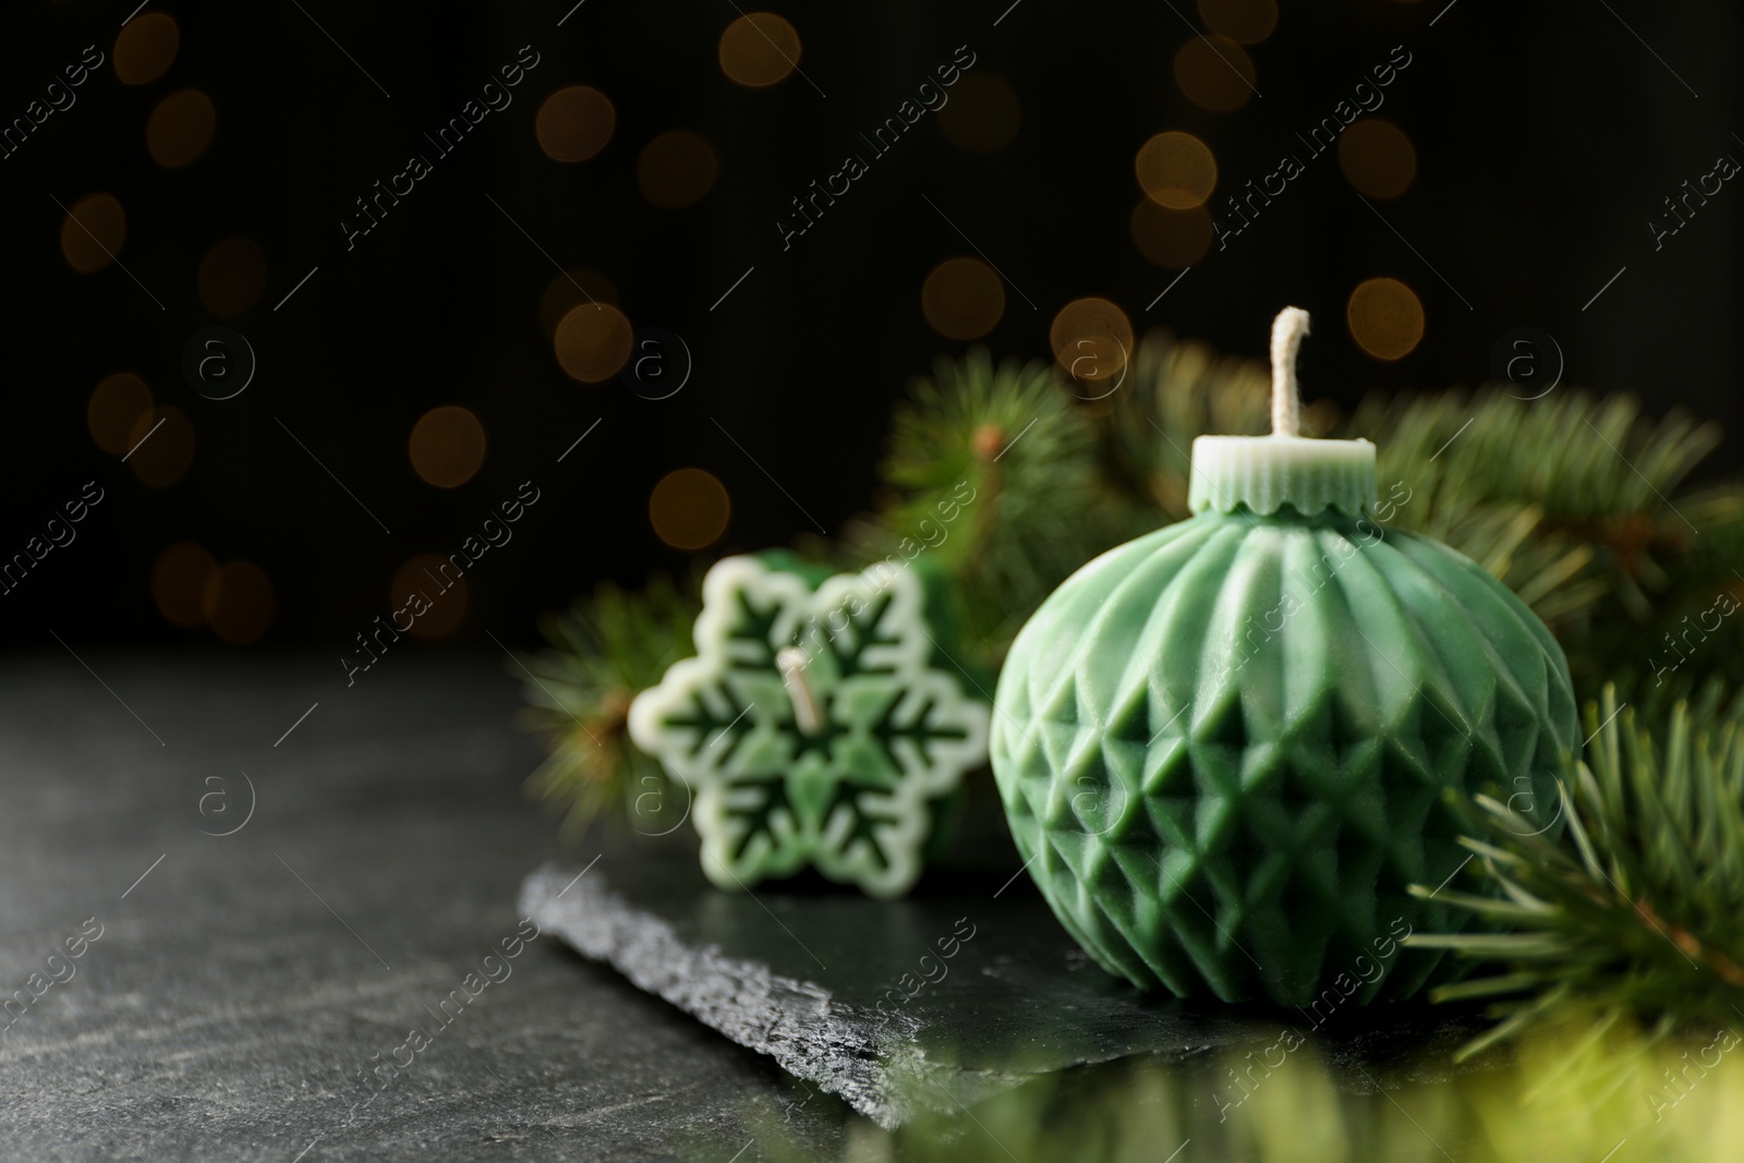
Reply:
<svg viewBox="0 0 1744 1163"><path fill-rule="evenodd" d="M1266 516L1285 506L1301 516L1338 509L1359 516L1374 504L1374 445L1299 434L1296 352L1308 312L1285 307L1271 323L1271 436L1200 436L1193 441L1188 507L1198 514Z"/></svg>

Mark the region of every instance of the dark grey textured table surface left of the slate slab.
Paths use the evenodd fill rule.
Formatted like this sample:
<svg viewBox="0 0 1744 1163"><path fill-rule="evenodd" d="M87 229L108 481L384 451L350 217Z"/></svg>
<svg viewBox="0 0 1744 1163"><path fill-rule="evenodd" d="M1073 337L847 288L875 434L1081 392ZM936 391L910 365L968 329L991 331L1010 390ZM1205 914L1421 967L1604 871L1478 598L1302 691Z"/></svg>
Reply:
<svg viewBox="0 0 1744 1163"><path fill-rule="evenodd" d="M771 1118L839 1151L839 1104L555 936L441 1008L514 936L523 875L589 854L521 795L539 743L501 656L352 689L84 661L0 668L0 996L33 1003L0 1043L0 1160L724 1161ZM358 1074L394 1058L371 1098Z"/></svg>

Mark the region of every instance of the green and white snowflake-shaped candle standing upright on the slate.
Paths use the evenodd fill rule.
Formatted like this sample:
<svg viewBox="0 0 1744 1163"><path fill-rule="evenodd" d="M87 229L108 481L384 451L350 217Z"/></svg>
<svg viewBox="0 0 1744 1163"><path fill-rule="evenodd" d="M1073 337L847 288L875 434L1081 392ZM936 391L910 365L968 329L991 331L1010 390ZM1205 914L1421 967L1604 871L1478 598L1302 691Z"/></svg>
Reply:
<svg viewBox="0 0 1744 1163"><path fill-rule="evenodd" d="M750 888L813 865L874 896L921 874L935 809L987 760L909 565L821 577L785 554L703 581L696 657L637 696L630 736L694 792L703 872Z"/></svg>

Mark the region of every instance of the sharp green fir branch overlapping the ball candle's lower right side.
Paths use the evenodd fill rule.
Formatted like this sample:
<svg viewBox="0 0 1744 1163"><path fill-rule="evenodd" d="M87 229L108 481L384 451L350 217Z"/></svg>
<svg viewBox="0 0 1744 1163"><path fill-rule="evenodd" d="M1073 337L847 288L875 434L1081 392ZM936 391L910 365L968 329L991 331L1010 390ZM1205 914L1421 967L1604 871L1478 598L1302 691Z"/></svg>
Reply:
<svg viewBox="0 0 1744 1163"><path fill-rule="evenodd" d="M1463 844L1502 894L1411 889L1512 929L1406 940L1505 966L1432 994L1503 999L1503 1022L1461 1057L1573 1006L1660 1032L1744 1024L1744 704L1721 708L1716 684L1672 706L1655 745L1606 689L1587 731L1589 762L1563 786L1566 837L1531 835L1524 816L1477 797L1465 811L1489 839Z"/></svg>

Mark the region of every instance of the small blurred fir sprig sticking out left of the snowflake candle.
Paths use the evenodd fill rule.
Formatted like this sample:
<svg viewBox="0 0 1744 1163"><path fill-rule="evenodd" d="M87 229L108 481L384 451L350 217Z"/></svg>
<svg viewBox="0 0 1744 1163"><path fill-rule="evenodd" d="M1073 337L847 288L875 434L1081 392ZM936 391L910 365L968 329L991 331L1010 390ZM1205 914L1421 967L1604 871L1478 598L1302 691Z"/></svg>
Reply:
<svg viewBox="0 0 1744 1163"><path fill-rule="evenodd" d="M694 577L675 586L656 575L640 593L605 582L567 614L541 621L549 650L516 659L525 717L551 748L527 788L563 813L565 835L581 835L602 813L657 816L659 807L637 807L645 797L671 802L666 771L630 741L630 701L692 652L699 589Z"/></svg>

